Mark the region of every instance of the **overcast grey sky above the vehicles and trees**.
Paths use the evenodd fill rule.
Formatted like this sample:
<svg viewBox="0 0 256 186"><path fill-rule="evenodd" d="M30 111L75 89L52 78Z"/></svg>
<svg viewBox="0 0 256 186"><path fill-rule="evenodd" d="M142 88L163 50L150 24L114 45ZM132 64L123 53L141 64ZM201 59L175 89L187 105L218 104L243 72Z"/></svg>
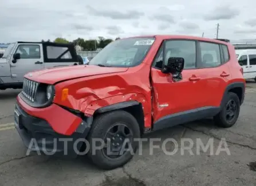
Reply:
<svg viewBox="0 0 256 186"><path fill-rule="evenodd" d="M253 0L7 0L0 6L0 43L69 41L144 34L256 38Z"/></svg>

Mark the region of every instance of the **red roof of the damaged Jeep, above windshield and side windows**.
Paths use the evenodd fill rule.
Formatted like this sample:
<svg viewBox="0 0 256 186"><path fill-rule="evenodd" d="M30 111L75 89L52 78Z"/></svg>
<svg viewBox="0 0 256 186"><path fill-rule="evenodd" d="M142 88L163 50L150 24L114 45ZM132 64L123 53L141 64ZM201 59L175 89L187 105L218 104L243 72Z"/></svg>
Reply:
<svg viewBox="0 0 256 186"><path fill-rule="evenodd" d="M225 41L220 41L218 39L211 39L211 38L206 38L206 37L196 37L192 35L140 35L140 36L135 36L135 37L127 37L127 38L139 38L139 37L155 37L156 39L192 39L192 40L200 40L200 41L206 41L206 42L215 42L215 43L220 43L224 45L232 45L229 42Z"/></svg>

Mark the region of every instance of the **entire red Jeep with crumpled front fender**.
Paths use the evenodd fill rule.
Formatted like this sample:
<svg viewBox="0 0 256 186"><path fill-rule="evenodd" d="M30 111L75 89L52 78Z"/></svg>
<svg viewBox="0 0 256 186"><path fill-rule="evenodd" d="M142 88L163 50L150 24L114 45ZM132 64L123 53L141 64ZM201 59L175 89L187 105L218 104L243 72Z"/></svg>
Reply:
<svg viewBox="0 0 256 186"><path fill-rule="evenodd" d="M151 35L114 41L89 65L26 74L14 119L32 151L76 156L89 146L94 164L113 169L132 159L146 132L207 117L233 126L244 96L230 43Z"/></svg>

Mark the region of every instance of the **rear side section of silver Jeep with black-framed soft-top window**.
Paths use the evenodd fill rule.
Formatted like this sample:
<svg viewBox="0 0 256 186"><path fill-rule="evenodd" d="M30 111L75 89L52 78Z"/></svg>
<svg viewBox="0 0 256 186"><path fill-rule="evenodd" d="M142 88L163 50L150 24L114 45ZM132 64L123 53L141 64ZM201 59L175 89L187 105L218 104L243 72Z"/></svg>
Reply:
<svg viewBox="0 0 256 186"><path fill-rule="evenodd" d="M77 55L72 45L44 43L44 67L78 65Z"/></svg>

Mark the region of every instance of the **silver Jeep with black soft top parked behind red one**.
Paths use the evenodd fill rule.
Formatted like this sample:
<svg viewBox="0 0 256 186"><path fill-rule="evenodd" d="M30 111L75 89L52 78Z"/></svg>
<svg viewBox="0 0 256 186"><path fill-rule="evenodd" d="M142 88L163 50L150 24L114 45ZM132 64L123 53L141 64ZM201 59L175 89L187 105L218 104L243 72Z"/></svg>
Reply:
<svg viewBox="0 0 256 186"><path fill-rule="evenodd" d="M71 43L15 42L0 57L0 90L20 89L23 76L36 70L68 65L82 65Z"/></svg>

